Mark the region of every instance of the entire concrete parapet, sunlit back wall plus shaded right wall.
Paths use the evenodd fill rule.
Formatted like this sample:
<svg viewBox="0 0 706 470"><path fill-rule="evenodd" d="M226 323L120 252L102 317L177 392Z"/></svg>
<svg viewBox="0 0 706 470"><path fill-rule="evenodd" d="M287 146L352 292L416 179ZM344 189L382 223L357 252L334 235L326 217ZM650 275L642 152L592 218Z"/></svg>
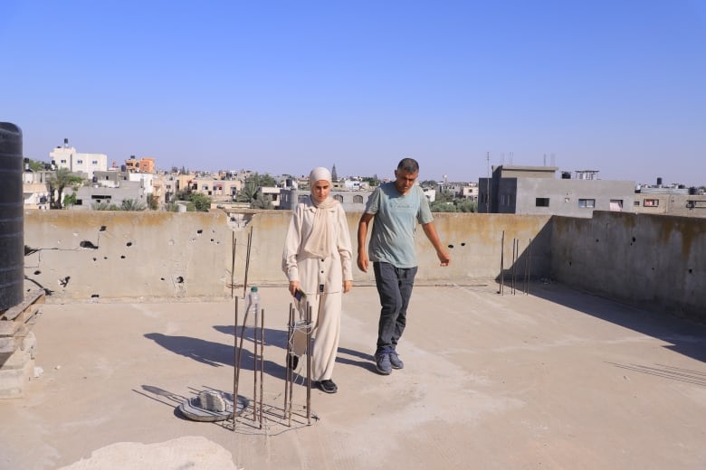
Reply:
<svg viewBox="0 0 706 470"><path fill-rule="evenodd" d="M359 216L348 213L354 251ZM706 220L701 218L611 211L595 211L593 219L434 216L453 261L449 268L439 267L419 228L419 285L494 283L501 258L507 284L512 243L518 240L518 279L529 265L533 279L551 277L597 295L706 320ZM239 296L245 282L283 287L281 248L289 220L288 211L262 211L232 230L221 211L25 211L25 289L47 289L47 302L100 302L226 297L231 280ZM354 268L354 274L357 285L374 283L372 269Z"/></svg>

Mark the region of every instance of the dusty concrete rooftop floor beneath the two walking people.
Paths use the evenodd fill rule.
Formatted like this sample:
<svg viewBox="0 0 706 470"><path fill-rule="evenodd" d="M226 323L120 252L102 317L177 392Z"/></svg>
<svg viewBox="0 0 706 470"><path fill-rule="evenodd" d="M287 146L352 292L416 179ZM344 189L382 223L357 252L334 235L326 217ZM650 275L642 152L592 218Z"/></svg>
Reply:
<svg viewBox="0 0 706 470"><path fill-rule="evenodd" d="M233 301L47 304L33 327L43 374L0 401L0 468L706 468L704 325L558 284L418 286L405 369L381 376L377 293L354 287L339 392L312 390L308 425L296 385L290 427L290 299L261 293L262 429L248 411L235 431L176 411L200 390L233 390ZM244 349L239 393L252 398Z"/></svg>

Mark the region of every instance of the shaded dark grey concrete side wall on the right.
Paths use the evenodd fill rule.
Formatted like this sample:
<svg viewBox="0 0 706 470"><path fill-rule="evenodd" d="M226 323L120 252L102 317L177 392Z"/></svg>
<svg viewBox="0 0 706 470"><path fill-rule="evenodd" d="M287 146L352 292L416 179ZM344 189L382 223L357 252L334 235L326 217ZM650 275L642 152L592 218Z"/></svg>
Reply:
<svg viewBox="0 0 706 470"><path fill-rule="evenodd" d="M706 320L706 221L595 211L552 219L552 275L632 305Z"/></svg>

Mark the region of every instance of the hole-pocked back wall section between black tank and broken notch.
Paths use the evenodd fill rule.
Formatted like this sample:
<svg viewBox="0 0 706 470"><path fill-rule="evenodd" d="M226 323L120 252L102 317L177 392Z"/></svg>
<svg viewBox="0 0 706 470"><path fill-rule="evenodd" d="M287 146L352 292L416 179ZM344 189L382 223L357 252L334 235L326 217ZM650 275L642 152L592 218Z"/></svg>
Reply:
<svg viewBox="0 0 706 470"><path fill-rule="evenodd" d="M25 211L24 287L47 302L224 296L224 213Z"/></svg>

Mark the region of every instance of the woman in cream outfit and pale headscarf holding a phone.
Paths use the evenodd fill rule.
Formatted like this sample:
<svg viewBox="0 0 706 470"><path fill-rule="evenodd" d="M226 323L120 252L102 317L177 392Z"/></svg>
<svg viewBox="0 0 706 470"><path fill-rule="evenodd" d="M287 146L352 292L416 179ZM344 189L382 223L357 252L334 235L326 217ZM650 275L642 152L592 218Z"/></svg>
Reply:
<svg viewBox="0 0 706 470"><path fill-rule="evenodd" d="M340 203L329 197L331 174L314 168L309 175L311 195L291 214L282 252L282 270L290 281L290 294L298 289L305 298L299 302L303 319L305 305L311 306L315 343L311 352L311 378L326 393L336 393L331 380L339 349L341 295L353 287L352 249L346 213ZM306 333L296 328L294 355L288 367L296 369L299 356L306 353Z"/></svg>

